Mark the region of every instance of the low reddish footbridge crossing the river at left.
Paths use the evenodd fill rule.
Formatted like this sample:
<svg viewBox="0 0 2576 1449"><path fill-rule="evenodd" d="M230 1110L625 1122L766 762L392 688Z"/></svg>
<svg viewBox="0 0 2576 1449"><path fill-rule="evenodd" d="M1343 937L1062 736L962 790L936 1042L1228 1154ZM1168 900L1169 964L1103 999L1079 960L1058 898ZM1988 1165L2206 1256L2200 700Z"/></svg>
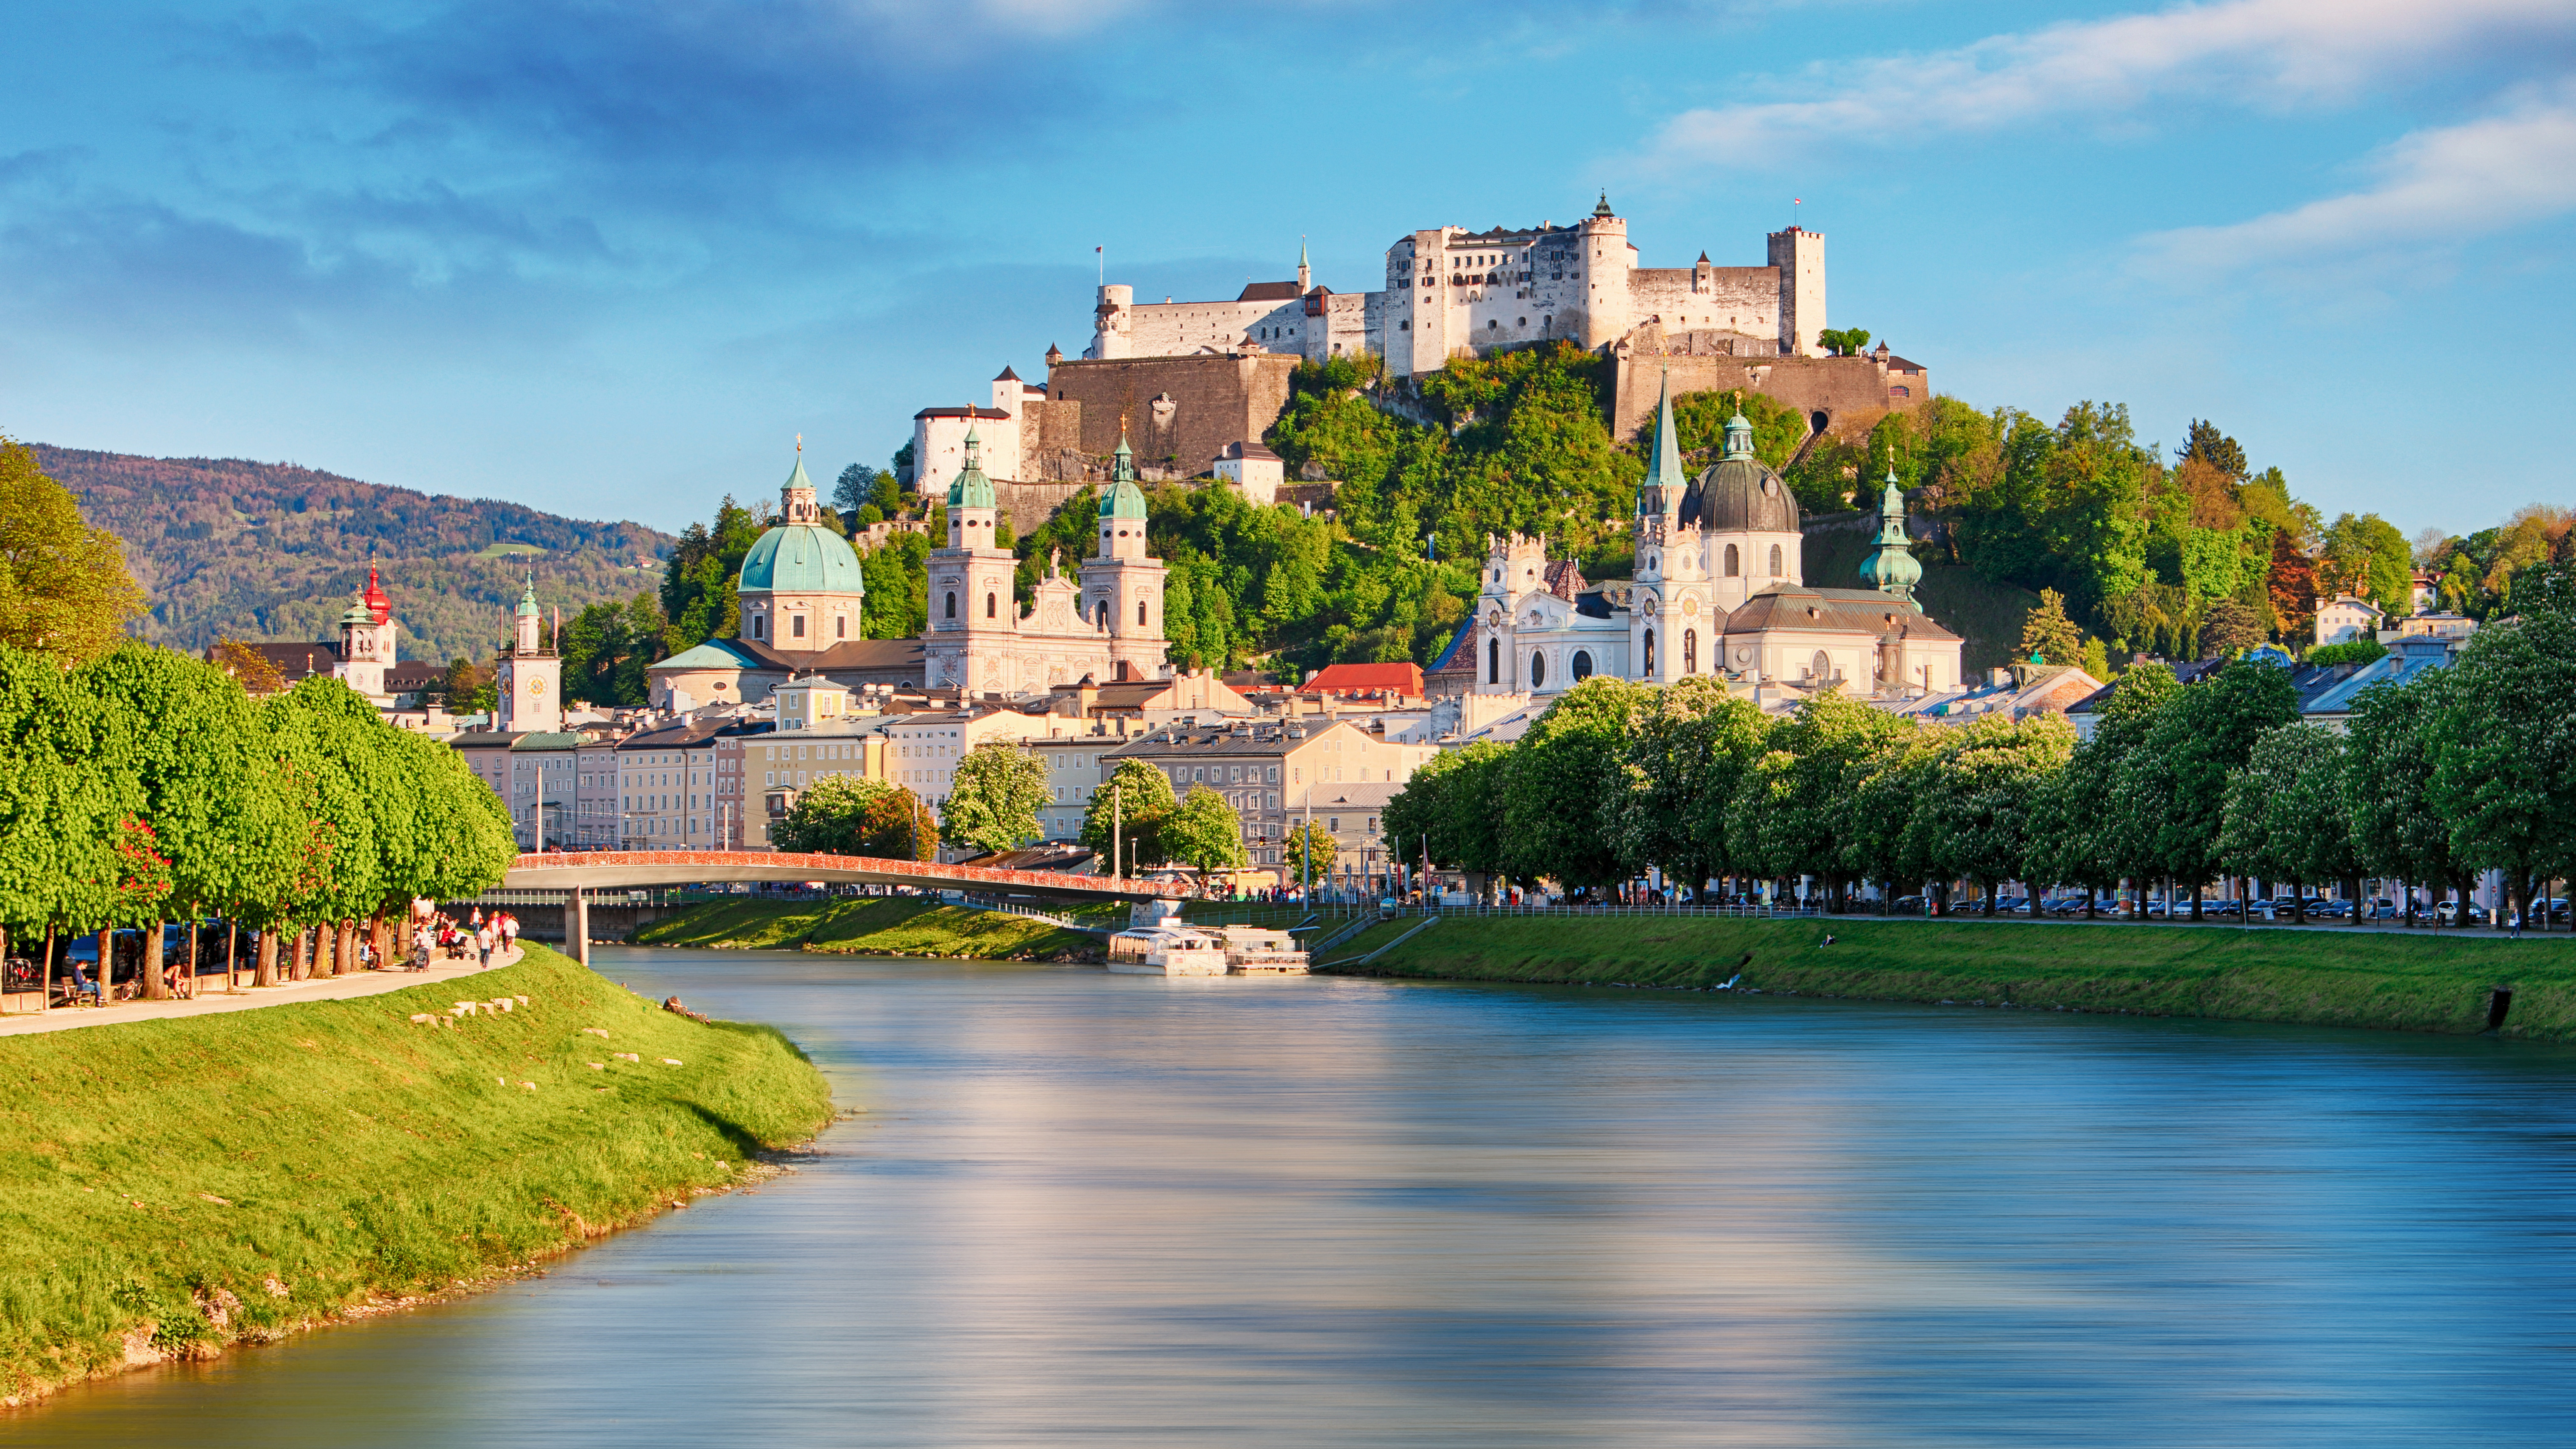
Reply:
<svg viewBox="0 0 2576 1449"><path fill-rule="evenodd" d="M989 866L943 866L938 861L793 856L786 851L549 851L544 856L520 856L500 887L595 892L701 882L912 884L922 890L1036 895L1048 900L1159 900L1185 895L1180 884L1131 877L997 871Z"/></svg>

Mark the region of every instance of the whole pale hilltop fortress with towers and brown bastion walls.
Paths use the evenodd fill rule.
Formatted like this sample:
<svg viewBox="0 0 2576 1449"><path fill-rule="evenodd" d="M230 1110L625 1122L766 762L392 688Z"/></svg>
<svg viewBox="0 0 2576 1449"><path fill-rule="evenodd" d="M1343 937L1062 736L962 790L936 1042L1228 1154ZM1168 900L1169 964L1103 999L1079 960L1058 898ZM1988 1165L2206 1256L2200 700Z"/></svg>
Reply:
<svg viewBox="0 0 2576 1449"><path fill-rule="evenodd" d="M969 431L1002 513L1023 526L1105 482L1121 436L1149 480L1260 472L1288 376L1358 353L1386 358L1404 389L1453 356L1574 343L1615 361L1618 438L1643 433L1667 376L1674 392L1762 392L1842 436L1932 394L1924 369L1886 345L1824 356L1824 327L1821 232L1770 232L1767 266L1716 266L1703 250L1692 266L1649 268L1605 196L1574 224L1406 232L1376 291L1319 286L1303 250L1293 281L1224 302L1136 302L1133 286L1103 284L1090 348L1048 348L1043 387L1002 369L989 402L914 415L912 485L948 487Z"/></svg>

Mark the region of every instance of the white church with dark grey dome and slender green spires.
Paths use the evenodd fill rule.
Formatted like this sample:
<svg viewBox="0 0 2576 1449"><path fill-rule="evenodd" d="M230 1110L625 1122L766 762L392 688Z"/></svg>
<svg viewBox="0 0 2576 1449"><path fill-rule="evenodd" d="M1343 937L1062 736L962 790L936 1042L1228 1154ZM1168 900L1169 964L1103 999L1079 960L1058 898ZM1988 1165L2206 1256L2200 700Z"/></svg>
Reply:
<svg viewBox="0 0 2576 1449"><path fill-rule="evenodd" d="M1914 603L1922 565L1893 474L1878 521L1868 588L1808 588L1798 500L1754 459L1752 423L1728 418L1718 462L1690 477L1667 382L1636 490L1636 580L1584 588L1571 565L1548 562L1546 539L1486 539L1476 691L1561 694L1595 673L1860 696L1958 688L1958 634Z"/></svg>

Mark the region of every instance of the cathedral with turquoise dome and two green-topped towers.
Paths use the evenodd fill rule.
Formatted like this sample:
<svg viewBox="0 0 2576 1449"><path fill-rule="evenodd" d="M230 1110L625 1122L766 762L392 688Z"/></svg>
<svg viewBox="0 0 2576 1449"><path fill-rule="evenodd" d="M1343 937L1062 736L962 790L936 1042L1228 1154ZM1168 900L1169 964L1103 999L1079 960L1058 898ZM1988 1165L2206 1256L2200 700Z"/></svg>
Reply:
<svg viewBox="0 0 2576 1449"><path fill-rule="evenodd" d="M742 557L739 634L654 663L647 678L657 706L757 704L796 676L848 688L1036 694L1084 676L1108 683L1172 673L1162 562L1144 552L1144 490L1126 441L1100 503L1100 552L1079 565L1079 583L1048 559L1036 606L1023 614L1012 593L1020 559L994 541L999 505L969 431L966 459L948 482L948 547L927 562L930 624L920 639L863 637L868 585L858 554L822 521L801 454L778 503L778 523Z"/></svg>

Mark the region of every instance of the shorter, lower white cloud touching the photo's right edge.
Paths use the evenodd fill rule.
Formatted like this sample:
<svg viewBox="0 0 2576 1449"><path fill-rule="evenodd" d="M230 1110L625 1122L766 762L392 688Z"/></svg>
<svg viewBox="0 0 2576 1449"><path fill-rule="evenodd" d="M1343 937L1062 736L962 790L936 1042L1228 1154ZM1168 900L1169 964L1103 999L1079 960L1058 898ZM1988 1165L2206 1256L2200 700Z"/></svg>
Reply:
<svg viewBox="0 0 2576 1449"><path fill-rule="evenodd" d="M2205 273L2501 232L2576 209L2576 83L2496 116L2414 131L2372 165L2378 183L2228 227L2141 240L2148 268Z"/></svg>

